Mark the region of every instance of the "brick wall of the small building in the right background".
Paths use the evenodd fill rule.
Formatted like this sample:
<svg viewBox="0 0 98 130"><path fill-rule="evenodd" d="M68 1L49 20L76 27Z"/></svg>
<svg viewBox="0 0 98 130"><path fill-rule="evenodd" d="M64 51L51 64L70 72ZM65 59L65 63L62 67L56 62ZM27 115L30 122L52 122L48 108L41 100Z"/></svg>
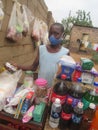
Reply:
<svg viewBox="0 0 98 130"><path fill-rule="evenodd" d="M83 34L89 35L89 42L98 43L98 28L74 25L71 30L70 47L78 48L77 39L82 39Z"/></svg>

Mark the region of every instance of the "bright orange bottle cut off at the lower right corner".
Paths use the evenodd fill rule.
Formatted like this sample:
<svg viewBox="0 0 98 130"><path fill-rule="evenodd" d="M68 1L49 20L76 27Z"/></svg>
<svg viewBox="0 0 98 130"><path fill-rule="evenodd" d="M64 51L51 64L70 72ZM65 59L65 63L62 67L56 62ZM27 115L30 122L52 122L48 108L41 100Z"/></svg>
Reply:
<svg viewBox="0 0 98 130"><path fill-rule="evenodd" d="M98 107L96 108L95 117L91 123L89 130L98 130Z"/></svg>

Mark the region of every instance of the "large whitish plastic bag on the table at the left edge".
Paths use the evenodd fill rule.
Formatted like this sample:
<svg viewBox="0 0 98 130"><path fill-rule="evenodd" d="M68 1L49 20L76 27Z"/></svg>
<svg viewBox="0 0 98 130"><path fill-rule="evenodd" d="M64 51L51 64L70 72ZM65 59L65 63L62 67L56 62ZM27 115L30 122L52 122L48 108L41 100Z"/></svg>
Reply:
<svg viewBox="0 0 98 130"><path fill-rule="evenodd" d="M6 104L6 98L13 96L21 75L22 70L18 70L13 74L5 70L0 74L0 111Z"/></svg>

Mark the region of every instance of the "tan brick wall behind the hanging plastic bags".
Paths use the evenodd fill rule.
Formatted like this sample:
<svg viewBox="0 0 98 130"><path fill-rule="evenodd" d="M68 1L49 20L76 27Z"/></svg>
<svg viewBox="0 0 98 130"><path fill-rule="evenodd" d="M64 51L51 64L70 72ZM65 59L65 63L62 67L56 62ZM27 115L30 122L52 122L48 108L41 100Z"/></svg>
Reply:
<svg viewBox="0 0 98 130"><path fill-rule="evenodd" d="M27 65L31 64L34 59L35 52L31 40L31 30L33 22L30 25L30 31L26 37L19 40L16 43L9 42L6 37L8 22L13 7L13 0L2 0L4 6L4 20L2 28L0 30L0 66L5 62L16 62L17 64ZM52 13L48 11L48 8L44 0L19 0L21 4L27 5L32 11L32 14L43 20L50 26L54 22Z"/></svg>

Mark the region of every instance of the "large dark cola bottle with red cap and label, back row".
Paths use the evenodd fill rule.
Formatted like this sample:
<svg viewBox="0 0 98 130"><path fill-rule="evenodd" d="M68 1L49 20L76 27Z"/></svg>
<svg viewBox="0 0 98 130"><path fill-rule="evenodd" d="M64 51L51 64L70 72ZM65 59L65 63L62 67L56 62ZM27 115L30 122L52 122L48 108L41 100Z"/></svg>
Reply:
<svg viewBox="0 0 98 130"><path fill-rule="evenodd" d="M65 102L65 99L67 98L67 93L68 93L68 87L63 81L65 78L66 76L62 75L62 81L54 85L52 96L51 96L52 102L54 102L55 98L59 98L61 101L61 104Z"/></svg>

